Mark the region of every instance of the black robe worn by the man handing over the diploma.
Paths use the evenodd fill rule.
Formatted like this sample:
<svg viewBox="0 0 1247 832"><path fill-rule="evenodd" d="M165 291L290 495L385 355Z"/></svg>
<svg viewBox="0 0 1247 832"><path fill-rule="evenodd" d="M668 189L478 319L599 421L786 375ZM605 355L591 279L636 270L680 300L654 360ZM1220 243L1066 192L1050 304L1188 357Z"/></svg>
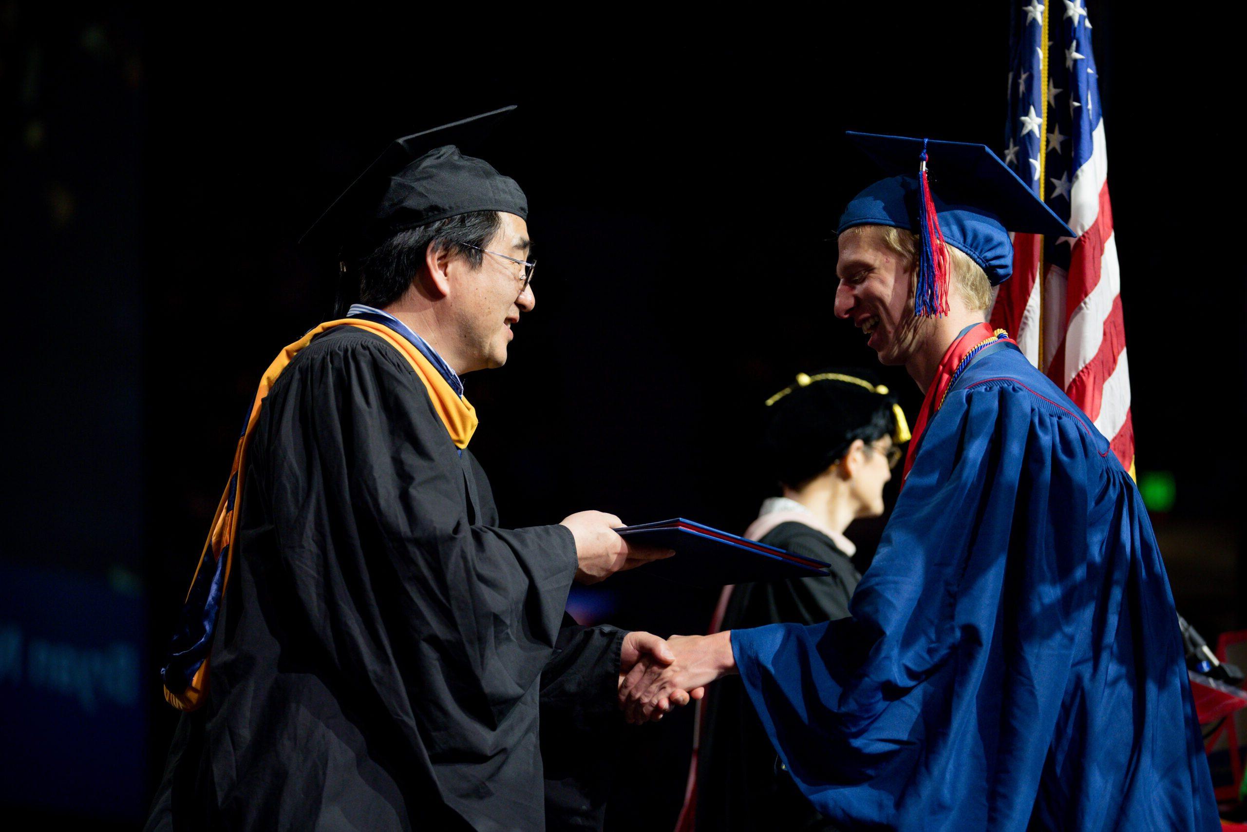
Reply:
<svg viewBox="0 0 1247 832"><path fill-rule="evenodd" d="M625 634L564 626L566 528L496 523L412 365L315 337L261 410L211 689L147 828L542 830L542 747L551 828L600 826L564 755L622 722Z"/></svg>

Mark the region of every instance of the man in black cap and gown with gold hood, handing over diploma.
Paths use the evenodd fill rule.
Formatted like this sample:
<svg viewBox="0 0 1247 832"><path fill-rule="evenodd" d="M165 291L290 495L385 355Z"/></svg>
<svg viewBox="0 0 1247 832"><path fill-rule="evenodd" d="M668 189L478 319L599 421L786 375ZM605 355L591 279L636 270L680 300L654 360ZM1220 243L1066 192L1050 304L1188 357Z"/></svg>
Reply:
<svg viewBox="0 0 1247 832"><path fill-rule="evenodd" d="M564 606L667 553L599 511L501 528L468 450L459 377L535 304L524 192L449 143L498 115L397 141L313 228L359 303L256 394L161 674L186 713L150 830L545 830L542 755L577 745L550 826L601 825L596 732L670 654Z"/></svg>

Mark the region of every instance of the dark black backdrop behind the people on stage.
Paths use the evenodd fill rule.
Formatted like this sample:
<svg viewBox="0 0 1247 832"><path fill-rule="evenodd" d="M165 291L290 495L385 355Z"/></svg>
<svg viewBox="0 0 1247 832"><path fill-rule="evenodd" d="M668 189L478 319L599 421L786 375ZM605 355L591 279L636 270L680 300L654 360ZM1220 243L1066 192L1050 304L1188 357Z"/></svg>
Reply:
<svg viewBox="0 0 1247 832"><path fill-rule="evenodd" d="M1176 501L1152 520L1178 609L1211 640L1247 626L1247 282L1226 230L1241 142L1218 111L1241 29L1201 7L1190 39L1166 24L1176 11L1087 6L1139 472L1172 475ZM521 106L489 156L530 198L537 307L506 368L466 379L504 523L596 508L739 531L769 494L762 400L798 370L877 367L832 316L827 238L874 178L840 133L999 150L1009 9L577 30L522 9L309 20L0 2L9 816L143 816L175 722L156 656L239 418L276 352L330 311L333 259L296 241L388 140ZM904 372L880 373L913 414ZM863 568L882 523L859 526ZM572 606L666 635L703 630L713 600L633 573ZM690 717L630 733L614 828L673 820Z"/></svg>

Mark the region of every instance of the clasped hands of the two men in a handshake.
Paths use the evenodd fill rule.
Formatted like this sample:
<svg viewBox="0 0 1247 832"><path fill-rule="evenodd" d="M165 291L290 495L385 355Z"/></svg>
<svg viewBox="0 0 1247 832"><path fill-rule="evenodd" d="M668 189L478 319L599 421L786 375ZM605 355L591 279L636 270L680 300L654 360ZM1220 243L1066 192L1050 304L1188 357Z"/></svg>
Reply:
<svg viewBox="0 0 1247 832"><path fill-rule="evenodd" d="M734 672L731 631L666 640L630 632L620 652L620 709L631 725L657 722L705 696L706 685Z"/></svg>

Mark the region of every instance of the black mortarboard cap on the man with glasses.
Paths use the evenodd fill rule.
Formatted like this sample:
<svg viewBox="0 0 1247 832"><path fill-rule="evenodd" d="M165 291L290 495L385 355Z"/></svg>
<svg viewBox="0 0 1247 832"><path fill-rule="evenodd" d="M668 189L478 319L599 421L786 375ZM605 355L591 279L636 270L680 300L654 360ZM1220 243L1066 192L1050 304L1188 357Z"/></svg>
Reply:
<svg viewBox="0 0 1247 832"><path fill-rule="evenodd" d="M515 180L480 158L465 156L515 105L397 138L368 166L301 242L359 253L390 236L475 211L527 218L529 202Z"/></svg>

